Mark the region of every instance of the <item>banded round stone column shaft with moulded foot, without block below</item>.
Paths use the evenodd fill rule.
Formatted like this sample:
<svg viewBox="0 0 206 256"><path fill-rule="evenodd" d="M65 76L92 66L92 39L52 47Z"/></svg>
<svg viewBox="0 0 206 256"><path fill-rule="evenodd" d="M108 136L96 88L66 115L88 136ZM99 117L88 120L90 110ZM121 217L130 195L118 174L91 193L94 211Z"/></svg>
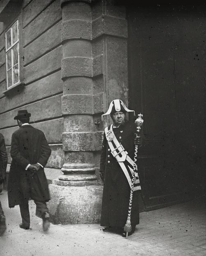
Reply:
<svg viewBox="0 0 206 256"><path fill-rule="evenodd" d="M62 1L64 175L57 184L95 184L93 159L93 81L91 6L89 1Z"/></svg>

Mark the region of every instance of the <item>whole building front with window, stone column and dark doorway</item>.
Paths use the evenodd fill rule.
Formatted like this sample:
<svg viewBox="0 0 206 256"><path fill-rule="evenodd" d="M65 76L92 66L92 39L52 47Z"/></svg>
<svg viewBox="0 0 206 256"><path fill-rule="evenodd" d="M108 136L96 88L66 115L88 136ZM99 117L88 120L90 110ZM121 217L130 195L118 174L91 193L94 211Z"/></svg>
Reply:
<svg viewBox="0 0 206 256"><path fill-rule="evenodd" d="M9 155L14 116L26 108L45 133L55 223L99 221L109 123L101 114L114 98L144 114L142 210L202 189L205 18L187 8L190 15L113 0L0 1L0 132Z"/></svg>

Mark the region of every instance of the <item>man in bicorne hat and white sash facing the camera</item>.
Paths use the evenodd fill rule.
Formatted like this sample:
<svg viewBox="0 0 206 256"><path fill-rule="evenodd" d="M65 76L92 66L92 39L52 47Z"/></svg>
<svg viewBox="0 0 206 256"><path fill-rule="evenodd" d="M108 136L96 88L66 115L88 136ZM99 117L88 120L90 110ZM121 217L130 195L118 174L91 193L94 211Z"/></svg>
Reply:
<svg viewBox="0 0 206 256"><path fill-rule="evenodd" d="M100 176L104 182L102 213L100 225L103 231L120 232L126 237L124 226L127 222L131 173L134 167L135 144L141 146L141 136L135 139L136 126L125 120L129 110L116 99L110 103L109 110L102 115L110 115L113 123L104 130L100 158ZM136 168L137 170L137 168ZM139 224L138 192L141 189L137 171L135 172L134 194L131 208L131 235Z"/></svg>

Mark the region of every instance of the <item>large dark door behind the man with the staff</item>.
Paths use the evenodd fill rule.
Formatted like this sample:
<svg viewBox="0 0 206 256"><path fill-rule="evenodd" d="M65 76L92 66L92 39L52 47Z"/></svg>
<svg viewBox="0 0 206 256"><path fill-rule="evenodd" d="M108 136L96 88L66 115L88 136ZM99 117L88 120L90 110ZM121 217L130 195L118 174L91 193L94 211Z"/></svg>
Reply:
<svg viewBox="0 0 206 256"><path fill-rule="evenodd" d="M146 210L204 189L205 10L127 9L129 104L145 121L138 165Z"/></svg>

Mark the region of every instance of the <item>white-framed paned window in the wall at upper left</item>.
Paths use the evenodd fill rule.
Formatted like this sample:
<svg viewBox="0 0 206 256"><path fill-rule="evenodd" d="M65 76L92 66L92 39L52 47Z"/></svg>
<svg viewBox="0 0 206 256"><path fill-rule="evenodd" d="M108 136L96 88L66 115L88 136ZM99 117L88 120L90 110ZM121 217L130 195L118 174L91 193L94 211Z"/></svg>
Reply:
<svg viewBox="0 0 206 256"><path fill-rule="evenodd" d="M19 69L19 24L17 20L6 32L7 89L20 82Z"/></svg>

